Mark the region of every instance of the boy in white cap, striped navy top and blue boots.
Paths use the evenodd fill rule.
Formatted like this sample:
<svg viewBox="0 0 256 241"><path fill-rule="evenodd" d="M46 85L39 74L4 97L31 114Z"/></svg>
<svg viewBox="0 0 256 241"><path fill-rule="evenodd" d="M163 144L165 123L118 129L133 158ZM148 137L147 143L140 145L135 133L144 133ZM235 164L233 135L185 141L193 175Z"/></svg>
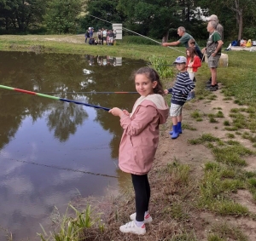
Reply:
<svg viewBox="0 0 256 241"><path fill-rule="evenodd" d="M177 78L174 86L171 89L165 89L165 94L172 93L170 116L172 117L172 139L176 139L179 134L182 134L182 110L183 105L187 100L189 92L195 88L195 83L189 78L189 73L186 71L187 59L184 56L179 56L173 62L177 67Z"/></svg>

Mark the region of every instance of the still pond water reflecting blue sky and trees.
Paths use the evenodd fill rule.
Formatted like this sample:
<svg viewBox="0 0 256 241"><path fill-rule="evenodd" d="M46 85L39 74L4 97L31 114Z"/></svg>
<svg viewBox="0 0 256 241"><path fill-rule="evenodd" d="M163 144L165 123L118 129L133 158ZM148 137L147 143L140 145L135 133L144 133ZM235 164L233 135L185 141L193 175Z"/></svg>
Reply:
<svg viewBox="0 0 256 241"><path fill-rule="evenodd" d="M131 72L143 60L0 52L1 85L131 111ZM100 93L100 92L105 92ZM102 196L128 175L118 168L119 118L107 111L0 89L0 240L39 240L39 223L76 195Z"/></svg>

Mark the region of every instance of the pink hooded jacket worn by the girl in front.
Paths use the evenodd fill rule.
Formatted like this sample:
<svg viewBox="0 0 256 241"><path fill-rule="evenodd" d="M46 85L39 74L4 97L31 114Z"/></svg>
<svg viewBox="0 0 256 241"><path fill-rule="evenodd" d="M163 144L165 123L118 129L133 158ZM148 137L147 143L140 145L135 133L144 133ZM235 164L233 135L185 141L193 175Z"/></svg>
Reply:
<svg viewBox="0 0 256 241"><path fill-rule="evenodd" d="M159 142L159 125L166 123L169 107L161 95L141 96L130 117L120 118L124 129L119 146L119 168L126 173L145 175L154 161Z"/></svg>

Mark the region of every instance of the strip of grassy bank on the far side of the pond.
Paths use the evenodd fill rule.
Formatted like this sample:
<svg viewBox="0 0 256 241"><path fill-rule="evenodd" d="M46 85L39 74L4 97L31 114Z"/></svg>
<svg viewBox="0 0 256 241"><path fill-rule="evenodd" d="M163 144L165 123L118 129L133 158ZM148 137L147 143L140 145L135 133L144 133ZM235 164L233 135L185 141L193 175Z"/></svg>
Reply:
<svg viewBox="0 0 256 241"><path fill-rule="evenodd" d="M182 47L176 48L178 51L185 52ZM3 35L0 36L1 51L38 51L38 52L55 52L62 54L79 54L79 55L113 55L133 59L148 60L152 55L164 56L172 61L181 52L170 48L164 48L160 45L142 45L122 43L117 45L89 45L84 43L82 35Z"/></svg>

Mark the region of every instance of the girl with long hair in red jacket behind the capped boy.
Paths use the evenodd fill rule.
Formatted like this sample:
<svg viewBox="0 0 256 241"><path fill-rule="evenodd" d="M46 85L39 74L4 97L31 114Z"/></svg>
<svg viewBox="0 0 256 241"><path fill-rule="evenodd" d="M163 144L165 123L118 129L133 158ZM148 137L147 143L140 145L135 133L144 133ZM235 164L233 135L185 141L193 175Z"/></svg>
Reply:
<svg viewBox="0 0 256 241"><path fill-rule="evenodd" d="M197 72L197 69L201 67L201 59L196 55L195 48L189 47L186 50L187 55L187 72L189 73L189 78L193 80L195 83L195 72ZM191 92L188 95L187 100L191 100L195 97L195 91L191 90Z"/></svg>

